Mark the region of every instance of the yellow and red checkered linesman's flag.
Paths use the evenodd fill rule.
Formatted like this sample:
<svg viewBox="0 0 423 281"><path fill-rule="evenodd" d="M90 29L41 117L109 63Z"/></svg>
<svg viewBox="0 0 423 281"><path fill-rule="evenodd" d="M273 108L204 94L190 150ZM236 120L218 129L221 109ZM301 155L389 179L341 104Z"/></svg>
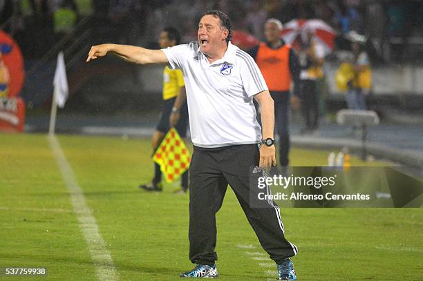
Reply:
<svg viewBox="0 0 423 281"><path fill-rule="evenodd" d="M153 161L160 165L166 182L173 182L188 170L191 155L175 128L167 132L153 155Z"/></svg>

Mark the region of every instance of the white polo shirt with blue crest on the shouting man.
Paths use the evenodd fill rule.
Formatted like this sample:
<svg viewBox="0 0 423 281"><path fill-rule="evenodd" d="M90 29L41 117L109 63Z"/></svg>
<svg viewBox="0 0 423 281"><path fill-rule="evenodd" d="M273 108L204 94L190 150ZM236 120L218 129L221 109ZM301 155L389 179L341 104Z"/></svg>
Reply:
<svg viewBox="0 0 423 281"><path fill-rule="evenodd" d="M216 148L261 142L253 96L268 90L259 67L229 42L222 59L209 63L198 42L163 49L170 68L180 68L187 90L195 146Z"/></svg>

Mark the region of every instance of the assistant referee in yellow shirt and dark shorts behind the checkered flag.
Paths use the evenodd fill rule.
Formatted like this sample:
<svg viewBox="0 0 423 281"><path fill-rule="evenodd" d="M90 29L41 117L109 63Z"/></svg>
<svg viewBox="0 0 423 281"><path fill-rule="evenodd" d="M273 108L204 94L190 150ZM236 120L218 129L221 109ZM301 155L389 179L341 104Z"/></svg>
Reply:
<svg viewBox="0 0 423 281"><path fill-rule="evenodd" d="M158 43L160 48L168 48L178 45L180 34L175 28L164 28L160 33ZM163 70L163 109L160 121L153 133L151 142L153 151L156 151L167 131L171 126L175 127L180 137L187 135L188 108L185 99L185 83L180 69L171 70L165 67ZM162 172L160 166L154 163L154 177L148 184L141 184L140 188L147 191L162 191ZM181 192L188 189L188 172L182 174Z"/></svg>

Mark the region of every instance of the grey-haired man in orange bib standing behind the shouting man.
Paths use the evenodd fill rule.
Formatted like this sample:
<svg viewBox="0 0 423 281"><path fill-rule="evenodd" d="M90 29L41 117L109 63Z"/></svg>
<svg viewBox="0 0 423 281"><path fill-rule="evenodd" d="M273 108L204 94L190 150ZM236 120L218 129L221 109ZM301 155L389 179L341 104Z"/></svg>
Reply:
<svg viewBox="0 0 423 281"><path fill-rule="evenodd" d="M279 135L279 165L288 166L290 103L293 108L298 108L300 68L295 51L281 39L282 28L279 19L267 19L266 41L249 50L249 53L263 73L274 100L275 128ZM294 81L294 95L291 97L292 81Z"/></svg>

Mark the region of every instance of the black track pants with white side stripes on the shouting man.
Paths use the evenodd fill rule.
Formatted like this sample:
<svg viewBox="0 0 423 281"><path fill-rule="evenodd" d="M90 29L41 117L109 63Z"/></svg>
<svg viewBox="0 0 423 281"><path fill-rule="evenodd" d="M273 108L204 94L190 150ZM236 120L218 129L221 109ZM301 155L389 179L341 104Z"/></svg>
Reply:
<svg viewBox="0 0 423 281"><path fill-rule="evenodd" d="M191 262L212 265L217 260L217 254L214 251L216 213L222 206L227 184L234 190L261 246L276 264L281 264L285 258L297 253L297 247L285 239L279 207L276 204L269 205L268 208L250 207L250 166L258 164L257 144L229 146L214 151L194 148L189 169L189 259Z"/></svg>

